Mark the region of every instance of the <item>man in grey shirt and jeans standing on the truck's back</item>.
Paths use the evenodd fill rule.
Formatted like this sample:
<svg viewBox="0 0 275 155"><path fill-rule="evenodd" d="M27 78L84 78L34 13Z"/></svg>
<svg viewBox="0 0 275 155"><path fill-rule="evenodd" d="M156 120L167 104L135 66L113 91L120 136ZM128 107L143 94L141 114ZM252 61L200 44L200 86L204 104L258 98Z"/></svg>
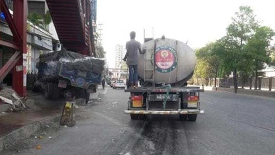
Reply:
<svg viewBox="0 0 275 155"><path fill-rule="evenodd" d="M123 58L123 61L127 60L127 65L129 68L129 82L130 87L138 87L138 51L140 54L144 54L144 51L141 51L141 44L135 40L136 32L130 32L130 41L126 43L126 54Z"/></svg>

